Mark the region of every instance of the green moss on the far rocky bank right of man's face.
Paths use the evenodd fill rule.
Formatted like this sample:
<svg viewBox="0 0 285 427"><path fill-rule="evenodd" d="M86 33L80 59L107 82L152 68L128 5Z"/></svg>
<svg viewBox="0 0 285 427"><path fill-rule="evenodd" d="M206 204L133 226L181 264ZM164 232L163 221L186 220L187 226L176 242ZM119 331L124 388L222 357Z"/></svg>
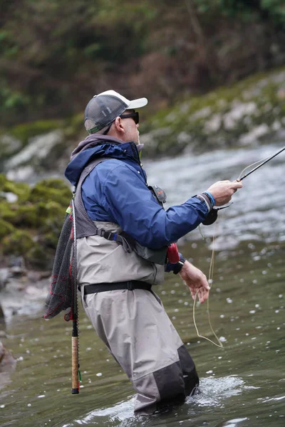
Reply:
<svg viewBox="0 0 285 427"><path fill-rule="evenodd" d="M184 97L171 109L160 110L145 125L145 130L150 132L150 142L145 144L144 154L150 157L178 154L187 144L199 152L212 147L231 147L237 145L241 135L261 124L267 125L270 133L274 121L284 117L285 102L278 95L279 89L284 87L281 74L284 70L283 67L254 75L206 95ZM225 125L225 114L231 115L237 103L249 102L254 102L256 110L234 118L234 125ZM209 130L207 125L215 117L217 123L220 122ZM169 130L167 135L154 132L161 128ZM180 138L181 132L189 137Z"/></svg>

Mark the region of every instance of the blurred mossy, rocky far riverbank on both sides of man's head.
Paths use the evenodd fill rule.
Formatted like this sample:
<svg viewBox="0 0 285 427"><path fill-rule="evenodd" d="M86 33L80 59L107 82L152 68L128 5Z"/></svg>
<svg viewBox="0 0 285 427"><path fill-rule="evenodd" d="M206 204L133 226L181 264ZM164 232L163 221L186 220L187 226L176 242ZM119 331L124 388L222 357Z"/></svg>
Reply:
<svg viewBox="0 0 285 427"><path fill-rule="evenodd" d="M252 75L206 95L182 97L140 125L143 157L202 153L284 139L285 68ZM150 99L151 102L151 99ZM63 176L70 153L86 137L82 114L0 130L0 172L17 181Z"/></svg>

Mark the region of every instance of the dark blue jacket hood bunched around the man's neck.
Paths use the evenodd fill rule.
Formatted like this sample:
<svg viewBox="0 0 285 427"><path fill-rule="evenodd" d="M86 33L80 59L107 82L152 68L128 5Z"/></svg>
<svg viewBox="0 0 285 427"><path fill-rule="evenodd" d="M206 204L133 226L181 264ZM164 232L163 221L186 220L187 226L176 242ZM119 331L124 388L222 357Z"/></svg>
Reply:
<svg viewBox="0 0 285 427"><path fill-rule="evenodd" d="M71 184L77 184L83 169L95 157L113 157L140 162L135 142L123 142L108 135L88 135L71 153L71 162L66 168L65 176Z"/></svg>

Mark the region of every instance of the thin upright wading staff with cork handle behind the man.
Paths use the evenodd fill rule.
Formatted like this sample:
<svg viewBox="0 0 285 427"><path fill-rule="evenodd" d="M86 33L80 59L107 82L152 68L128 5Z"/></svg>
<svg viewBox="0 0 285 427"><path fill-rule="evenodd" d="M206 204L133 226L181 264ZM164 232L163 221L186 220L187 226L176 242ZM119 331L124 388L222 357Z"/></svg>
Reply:
<svg viewBox="0 0 285 427"><path fill-rule="evenodd" d="M78 299L77 299L77 256L76 256L76 216L74 208L74 197L72 199L73 212L73 251L71 257L71 320L72 320L72 337L71 337L71 364L72 364L72 394L79 393L81 379L79 371L79 342L78 342Z"/></svg>

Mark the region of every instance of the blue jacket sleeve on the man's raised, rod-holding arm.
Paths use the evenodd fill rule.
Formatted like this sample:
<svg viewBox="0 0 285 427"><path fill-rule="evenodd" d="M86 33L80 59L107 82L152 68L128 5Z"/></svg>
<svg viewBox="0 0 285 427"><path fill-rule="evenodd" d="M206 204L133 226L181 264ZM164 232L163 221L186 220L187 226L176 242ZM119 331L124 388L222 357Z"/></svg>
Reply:
<svg viewBox="0 0 285 427"><path fill-rule="evenodd" d="M177 241L208 214L206 204L196 197L165 211L143 177L127 164L111 169L104 179L99 171L98 168L95 184L98 203L123 231L147 248L161 248Z"/></svg>

